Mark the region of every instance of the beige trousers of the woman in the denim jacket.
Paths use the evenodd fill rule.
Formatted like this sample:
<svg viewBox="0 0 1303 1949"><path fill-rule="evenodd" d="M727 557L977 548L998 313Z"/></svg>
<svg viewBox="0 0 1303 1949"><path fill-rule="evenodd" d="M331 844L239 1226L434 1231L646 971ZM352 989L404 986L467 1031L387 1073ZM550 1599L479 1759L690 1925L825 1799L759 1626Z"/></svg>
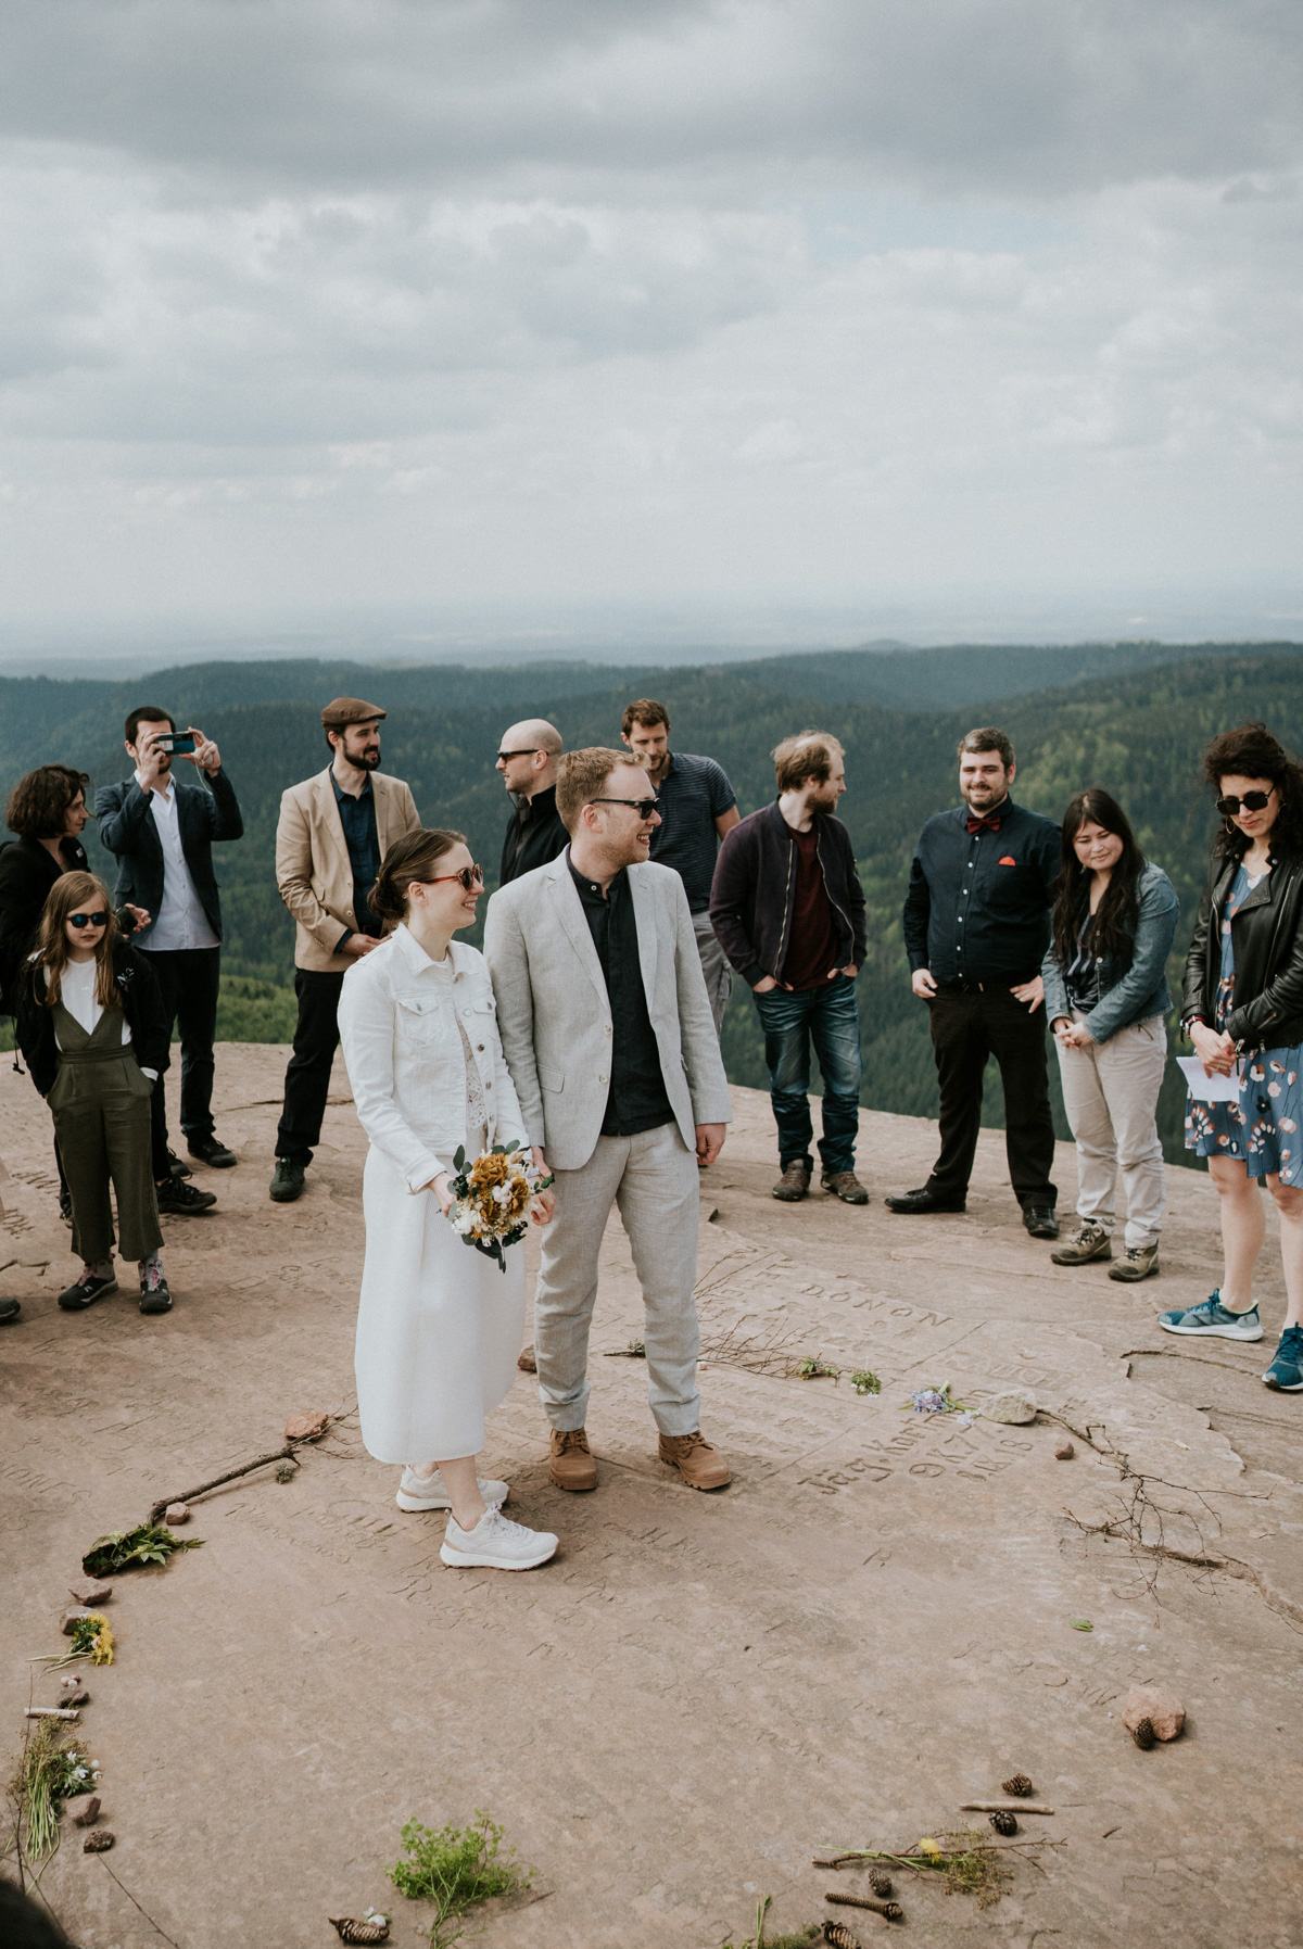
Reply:
<svg viewBox="0 0 1303 1949"><path fill-rule="evenodd" d="M1073 1012L1073 1021L1081 1021ZM1063 1049L1063 1109L1077 1138L1077 1216L1114 1228L1118 1166L1126 1189L1126 1243L1157 1243L1167 1210L1163 1142L1155 1123L1167 1029L1161 1015L1132 1021L1106 1043Z"/></svg>

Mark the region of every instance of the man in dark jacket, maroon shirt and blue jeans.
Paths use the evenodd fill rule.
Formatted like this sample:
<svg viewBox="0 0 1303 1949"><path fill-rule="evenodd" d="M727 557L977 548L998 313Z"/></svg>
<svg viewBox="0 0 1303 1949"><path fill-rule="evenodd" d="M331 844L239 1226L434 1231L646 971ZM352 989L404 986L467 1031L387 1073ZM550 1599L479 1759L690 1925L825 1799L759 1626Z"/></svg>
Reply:
<svg viewBox="0 0 1303 1949"><path fill-rule="evenodd" d="M859 1010L865 895L851 834L834 817L845 752L828 731L802 731L773 752L777 799L725 836L711 887L711 924L756 996L765 1031L781 1177L773 1197L810 1189L810 1043L824 1074L824 1191L867 1204L855 1177L859 1134Z"/></svg>

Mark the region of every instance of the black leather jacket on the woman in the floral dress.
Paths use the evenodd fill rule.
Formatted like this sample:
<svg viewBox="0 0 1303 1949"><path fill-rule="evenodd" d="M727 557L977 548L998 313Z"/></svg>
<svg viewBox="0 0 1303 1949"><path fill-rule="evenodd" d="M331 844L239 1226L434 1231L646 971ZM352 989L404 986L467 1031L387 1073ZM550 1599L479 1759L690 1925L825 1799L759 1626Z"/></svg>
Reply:
<svg viewBox="0 0 1303 1949"><path fill-rule="evenodd" d="M1217 1023L1221 916L1239 858L1213 854L1186 955L1180 1019ZM1235 1008L1225 1029L1245 1049L1295 1049L1303 1043L1303 860L1272 858L1231 922Z"/></svg>

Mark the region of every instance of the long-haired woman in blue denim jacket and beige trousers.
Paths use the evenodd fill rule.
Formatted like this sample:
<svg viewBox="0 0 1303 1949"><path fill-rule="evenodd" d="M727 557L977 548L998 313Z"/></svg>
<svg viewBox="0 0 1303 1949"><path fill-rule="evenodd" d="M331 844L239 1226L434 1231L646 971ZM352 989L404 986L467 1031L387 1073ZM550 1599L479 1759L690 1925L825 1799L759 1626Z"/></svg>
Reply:
<svg viewBox="0 0 1303 1949"><path fill-rule="evenodd" d="M1135 844L1118 801L1098 785L1063 813L1050 951L1042 963L1046 1019L1077 1140L1077 1232L1056 1265L1112 1259L1118 1166L1126 1189L1126 1251L1110 1279L1159 1271L1167 1210L1155 1111L1167 1066L1167 957L1180 902L1167 873Z"/></svg>

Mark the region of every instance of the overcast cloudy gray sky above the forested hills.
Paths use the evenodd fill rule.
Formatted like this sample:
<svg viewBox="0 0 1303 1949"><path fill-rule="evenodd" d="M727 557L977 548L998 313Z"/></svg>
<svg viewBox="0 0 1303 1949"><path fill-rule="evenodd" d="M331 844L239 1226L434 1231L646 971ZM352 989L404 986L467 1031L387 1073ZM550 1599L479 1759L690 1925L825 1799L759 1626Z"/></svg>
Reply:
<svg viewBox="0 0 1303 1949"><path fill-rule="evenodd" d="M1303 637L1301 47L1297 0L8 0L0 641Z"/></svg>

